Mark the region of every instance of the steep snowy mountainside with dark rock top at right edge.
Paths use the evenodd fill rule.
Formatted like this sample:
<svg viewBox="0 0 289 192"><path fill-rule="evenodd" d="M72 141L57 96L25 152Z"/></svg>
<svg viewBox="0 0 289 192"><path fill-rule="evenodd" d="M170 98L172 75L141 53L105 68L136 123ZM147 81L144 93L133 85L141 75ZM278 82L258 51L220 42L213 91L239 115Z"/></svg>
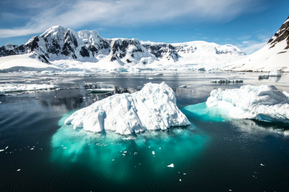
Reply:
<svg viewBox="0 0 289 192"><path fill-rule="evenodd" d="M289 72L289 17L263 48L245 59L236 61L236 65L228 69Z"/></svg>

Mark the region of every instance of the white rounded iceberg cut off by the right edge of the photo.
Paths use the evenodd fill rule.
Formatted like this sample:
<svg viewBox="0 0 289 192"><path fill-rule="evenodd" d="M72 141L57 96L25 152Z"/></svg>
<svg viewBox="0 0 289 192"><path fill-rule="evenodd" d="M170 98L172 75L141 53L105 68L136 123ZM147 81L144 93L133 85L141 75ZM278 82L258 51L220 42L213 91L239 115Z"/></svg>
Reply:
<svg viewBox="0 0 289 192"><path fill-rule="evenodd" d="M218 107L233 118L289 123L289 99L272 85L213 90L207 107Z"/></svg>

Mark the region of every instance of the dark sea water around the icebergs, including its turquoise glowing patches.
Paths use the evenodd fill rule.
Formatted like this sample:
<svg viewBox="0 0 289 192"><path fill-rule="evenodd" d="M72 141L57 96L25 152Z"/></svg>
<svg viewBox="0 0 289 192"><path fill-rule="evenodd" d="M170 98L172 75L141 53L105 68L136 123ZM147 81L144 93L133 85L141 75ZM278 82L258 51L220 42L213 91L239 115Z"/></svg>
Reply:
<svg viewBox="0 0 289 192"><path fill-rule="evenodd" d="M209 119L184 108L202 107L210 91L219 87L273 84L289 92L287 74L262 81L258 75L0 74L0 86L29 81L61 87L0 96L0 149L8 146L0 152L0 191L289 191L287 124L217 115ZM221 78L244 83L210 83ZM101 82L121 93L162 81L174 89L190 126L121 136L64 125L73 111L115 93L91 94L86 83ZM174 167L167 167L170 164Z"/></svg>

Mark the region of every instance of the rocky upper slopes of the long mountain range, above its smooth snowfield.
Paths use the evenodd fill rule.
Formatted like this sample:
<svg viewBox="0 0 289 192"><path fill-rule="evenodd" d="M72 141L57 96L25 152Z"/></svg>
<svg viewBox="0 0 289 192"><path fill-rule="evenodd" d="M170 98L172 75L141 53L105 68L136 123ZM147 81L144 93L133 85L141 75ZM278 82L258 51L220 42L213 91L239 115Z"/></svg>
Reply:
<svg viewBox="0 0 289 192"><path fill-rule="evenodd" d="M137 39L105 39L100 37L97 31L75 32L57 25L39 36L32 37L23 45L8 43L0 47L0 57L34 52L38 59L48 64L50 61L60 59L97 62L99 59L108 57L107 60L111 62L134 65L159 59L175 62L186 53L200 50L213 54L244 54L233 45L217 45L204 41L179 44L140 43Z"/></svg>

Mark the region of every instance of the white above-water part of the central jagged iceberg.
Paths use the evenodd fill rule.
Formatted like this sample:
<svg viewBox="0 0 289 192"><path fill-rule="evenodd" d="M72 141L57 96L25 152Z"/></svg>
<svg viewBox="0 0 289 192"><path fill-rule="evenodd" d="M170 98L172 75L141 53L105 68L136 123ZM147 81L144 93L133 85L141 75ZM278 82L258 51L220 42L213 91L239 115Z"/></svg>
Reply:
<svg viewBox="0 0 289 192"><path fill-rule="evenodd" d="M166 130L190 122L177 107L174 91L163 82L148 83L133 94L116 94L97 101L74 112L65 124L91 132L110 130L130 135L145 130Z"/></svg>

